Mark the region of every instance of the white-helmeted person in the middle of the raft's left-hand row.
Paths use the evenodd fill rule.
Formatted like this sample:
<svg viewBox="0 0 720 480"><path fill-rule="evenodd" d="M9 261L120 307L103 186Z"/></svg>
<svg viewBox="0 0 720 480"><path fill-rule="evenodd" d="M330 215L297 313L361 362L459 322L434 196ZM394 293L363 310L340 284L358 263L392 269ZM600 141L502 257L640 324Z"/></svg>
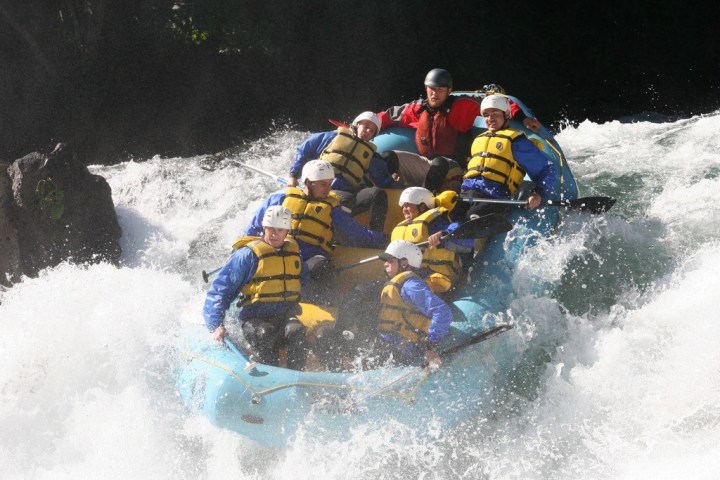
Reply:
<svg viewBox="0 0 720 480"><path fill-rule="evenodd" d="M311 160L302 173L303 186L288 187L282 193L271 195L255 212L244 235L259 235L262 218L273 205L283 205L292 213L290 235L300 245L304 261L322 256L329 259L341 233L348 246L382 248L385 235L357 223L340 206L340 198L332 192L335 171L330 162Z"/></svg>

